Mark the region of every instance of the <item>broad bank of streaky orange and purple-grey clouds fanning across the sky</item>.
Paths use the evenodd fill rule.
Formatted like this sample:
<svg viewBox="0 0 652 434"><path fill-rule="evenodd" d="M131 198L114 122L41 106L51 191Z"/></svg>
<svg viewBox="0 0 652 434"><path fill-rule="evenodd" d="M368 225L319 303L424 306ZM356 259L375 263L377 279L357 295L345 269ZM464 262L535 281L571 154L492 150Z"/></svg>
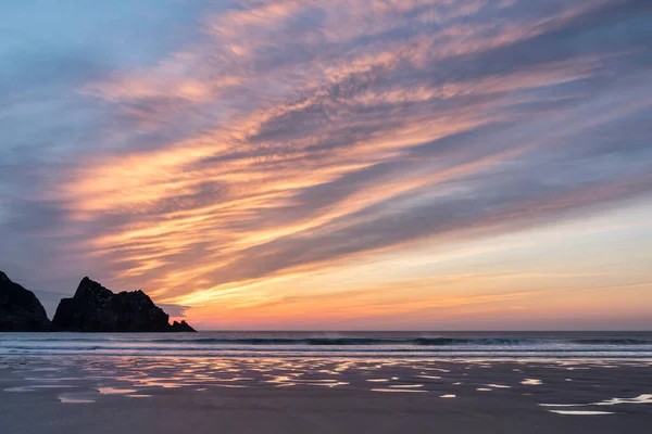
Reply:
<svg viewBox="0 0 652 434"><path fill-rule="evenodd" d="M33 151L0 150L14 155L0 164L12 174L0 234L43 269L90 267L191 306L227 291L251 307L292 295L249 285L617 207L651 183L651 12L634 0L206 5L183 44L143 64L12 73L18 90L63 82L48 113L65 116L4 108L37 118L39 140L23 128L12 149ZM34 157L50 137L58 151Z"/></svg>

